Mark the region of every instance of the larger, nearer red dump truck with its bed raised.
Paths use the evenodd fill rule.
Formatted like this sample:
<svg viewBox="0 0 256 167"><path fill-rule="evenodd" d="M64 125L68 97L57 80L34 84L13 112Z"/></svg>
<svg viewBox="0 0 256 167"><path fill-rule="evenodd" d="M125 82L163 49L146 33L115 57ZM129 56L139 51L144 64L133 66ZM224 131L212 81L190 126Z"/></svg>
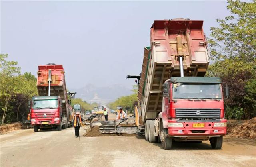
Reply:
<svg viewBox="0 0 256 167"><path fill-rule="evenodd" d="M171 149L173 141L210 140L221 149L226 134L224 95L218 77L204 77L209 64L203 21L155 20L144 48L136 124L146 141ZM137 80L136 80L137 82ZM228 88L225 88L228 96Z"/></svg>

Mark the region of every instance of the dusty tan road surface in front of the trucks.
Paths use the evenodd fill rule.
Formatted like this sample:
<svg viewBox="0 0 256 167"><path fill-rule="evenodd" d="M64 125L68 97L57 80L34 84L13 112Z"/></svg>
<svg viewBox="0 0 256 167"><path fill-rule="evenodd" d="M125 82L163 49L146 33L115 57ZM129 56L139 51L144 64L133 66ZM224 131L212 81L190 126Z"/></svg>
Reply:
<svg viewBox="0 0 256 167"><path fill-rule="evenodd" d="M80 128L80 133L85 130ZM221 150L203 143L174 143L162 150L136 136L75 138L74 128L62 131L33 129L0 135L1 167L83 166L255 166L253 141L224 138Z"/></svg>

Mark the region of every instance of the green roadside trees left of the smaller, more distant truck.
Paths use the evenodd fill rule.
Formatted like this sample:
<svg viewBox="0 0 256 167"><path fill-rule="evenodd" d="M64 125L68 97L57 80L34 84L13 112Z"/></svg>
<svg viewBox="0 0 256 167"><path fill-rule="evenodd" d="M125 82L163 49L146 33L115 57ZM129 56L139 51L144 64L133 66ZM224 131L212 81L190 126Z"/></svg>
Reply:
<svg viewBox="0 0 256 167"><path fill-rule="evenodd" d="M18 62L6 60L0 54L0 119L1 123L21 120L29 112L28 101L37 95L36 77L31 73L20 73Z"/></svg>

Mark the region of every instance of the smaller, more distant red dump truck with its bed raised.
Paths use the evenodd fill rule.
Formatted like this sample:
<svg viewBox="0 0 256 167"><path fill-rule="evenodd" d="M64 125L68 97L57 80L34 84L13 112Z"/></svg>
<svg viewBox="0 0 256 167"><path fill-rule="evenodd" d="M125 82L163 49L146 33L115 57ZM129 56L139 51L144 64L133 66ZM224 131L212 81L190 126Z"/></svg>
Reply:
<svg viewBox="0 0 256 167"><path fill-rule="evenodd" d="M34 132L46 128L68 128L73 121L72 107L66 90L62 65L39 65L37 72L38 95L32 98L31 124Z"/></svg>

